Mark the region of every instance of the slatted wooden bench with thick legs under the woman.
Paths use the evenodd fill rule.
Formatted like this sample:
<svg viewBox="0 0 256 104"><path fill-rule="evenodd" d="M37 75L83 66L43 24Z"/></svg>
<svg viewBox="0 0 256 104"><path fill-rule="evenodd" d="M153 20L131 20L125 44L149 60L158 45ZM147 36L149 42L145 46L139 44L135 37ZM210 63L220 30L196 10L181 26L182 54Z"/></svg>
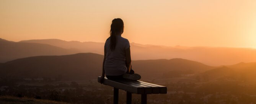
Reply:
<svg viewBox="0 0 256 104"><path fill-rule="evenodd" d="M99 82L100 76L98 76ZM165 86L155 85L143 81L132 80L108 80L104 78L104 85L114 87L114 104L118 104L119 89L126 91L126 104L132 103L132 93L141 94L141 104L147 104L147 94L166 94Z"/></svg>

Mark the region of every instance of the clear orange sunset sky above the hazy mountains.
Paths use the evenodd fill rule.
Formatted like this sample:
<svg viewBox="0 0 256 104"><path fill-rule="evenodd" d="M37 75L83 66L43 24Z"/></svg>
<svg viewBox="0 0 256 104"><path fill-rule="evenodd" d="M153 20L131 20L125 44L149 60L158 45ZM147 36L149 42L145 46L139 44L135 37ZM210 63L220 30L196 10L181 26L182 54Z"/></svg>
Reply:
<svg viewBox="0 0 256 104"><path fill-rule="evenodd" d="M256 0L0 0L0 38L256 48Z"/></svg>

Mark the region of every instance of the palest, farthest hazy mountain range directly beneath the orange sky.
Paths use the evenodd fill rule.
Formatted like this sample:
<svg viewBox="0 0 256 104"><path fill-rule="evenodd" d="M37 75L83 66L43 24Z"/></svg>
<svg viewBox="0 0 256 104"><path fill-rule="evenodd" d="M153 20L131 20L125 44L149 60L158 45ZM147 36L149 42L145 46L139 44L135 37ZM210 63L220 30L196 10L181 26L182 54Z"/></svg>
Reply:
<svg viewBox="0 0 256 104"><path fill-rule="evenodd" d="M77 49L103 55L103 42L62 41L59 39L27 40L21 42L49 44L65 49ZM233 65L239 62L256 62L256 49L230 47L156 46L130 43L132 60L188 59L207 65Z"/></svg>

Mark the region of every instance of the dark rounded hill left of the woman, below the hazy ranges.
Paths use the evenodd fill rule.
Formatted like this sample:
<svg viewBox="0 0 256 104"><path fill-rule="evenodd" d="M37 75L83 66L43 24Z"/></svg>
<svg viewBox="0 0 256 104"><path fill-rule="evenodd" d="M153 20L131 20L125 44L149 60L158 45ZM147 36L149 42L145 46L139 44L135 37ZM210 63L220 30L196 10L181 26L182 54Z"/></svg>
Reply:
<svg viewBox="0 0 256 104"><path fill-rule="evenodd" d="M28 57L4 63L1 72L8 77L86 80L101 73L102 59L93 53Z"/></svg>

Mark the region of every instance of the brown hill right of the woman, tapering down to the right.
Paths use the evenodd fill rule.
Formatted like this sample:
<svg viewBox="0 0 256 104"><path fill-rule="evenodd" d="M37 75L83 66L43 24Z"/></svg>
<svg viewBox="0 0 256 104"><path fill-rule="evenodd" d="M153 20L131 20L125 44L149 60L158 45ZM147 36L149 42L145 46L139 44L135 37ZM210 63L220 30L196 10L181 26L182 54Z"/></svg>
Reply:
<svg viewBox="0 0 256 104"><path fill-rule="evenodd" d="M177 74L195 74L214 68L186 59L135 60L132 61L132 67L135 70L140 69L137 71L138 73L150 75L151 77L162 76L164 78L177 76Z"/></svg>

